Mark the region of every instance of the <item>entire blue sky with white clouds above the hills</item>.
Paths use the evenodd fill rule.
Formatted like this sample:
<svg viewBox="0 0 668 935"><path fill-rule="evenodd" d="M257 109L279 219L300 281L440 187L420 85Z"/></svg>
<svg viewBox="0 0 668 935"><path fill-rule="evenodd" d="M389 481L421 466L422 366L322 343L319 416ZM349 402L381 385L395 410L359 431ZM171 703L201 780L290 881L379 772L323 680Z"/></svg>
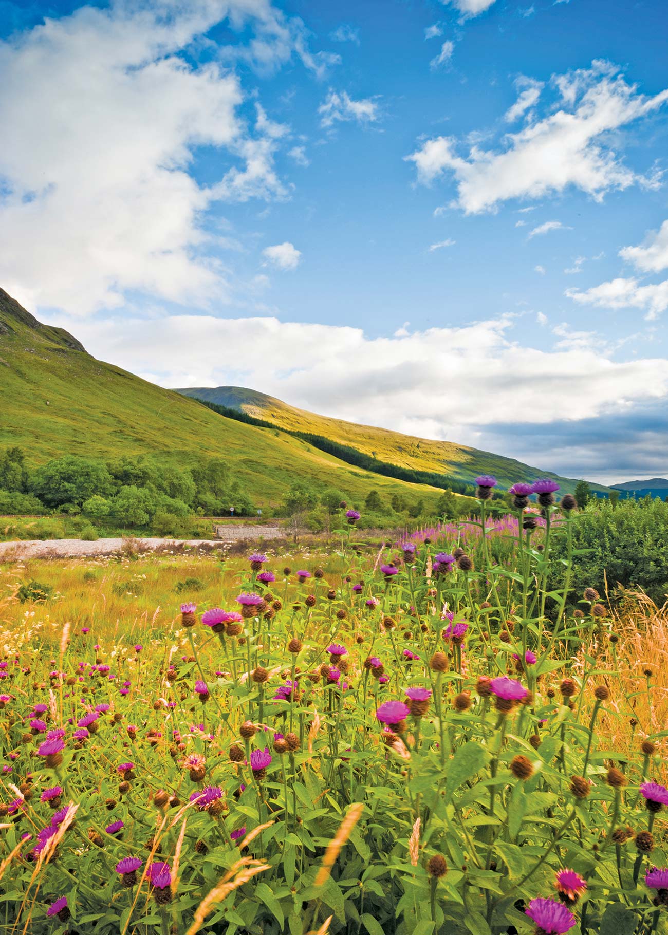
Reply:
<svg viewBox="0 0 668 935"><path fill-rule="evenodd" d="M0 24L0 285L95 356L666 476L659 0L0 0Z"/></svg>

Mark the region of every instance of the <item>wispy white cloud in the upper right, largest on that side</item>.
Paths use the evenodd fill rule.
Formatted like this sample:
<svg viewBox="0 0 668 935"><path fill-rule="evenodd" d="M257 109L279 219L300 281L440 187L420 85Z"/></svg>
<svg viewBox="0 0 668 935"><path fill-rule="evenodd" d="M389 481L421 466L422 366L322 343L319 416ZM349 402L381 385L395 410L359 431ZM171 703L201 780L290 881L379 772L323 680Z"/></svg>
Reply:
<svg viewBox="0 0 668 935"><path fill-rule="evenodd" d="M656 185L624 165L611 150L612 131L654 112L668 91L653 97L615 76L607 63L553 79L561 108L504 137L503 148L468 156L457 153L455 137L433 137L405 158L414 162L426 184L446 170L457 181L456 204L467 214L496 209L511 198L539 198L574 186L602 200L611 189L634 183ZM617 135L618 141L618 135Z"/></svg>

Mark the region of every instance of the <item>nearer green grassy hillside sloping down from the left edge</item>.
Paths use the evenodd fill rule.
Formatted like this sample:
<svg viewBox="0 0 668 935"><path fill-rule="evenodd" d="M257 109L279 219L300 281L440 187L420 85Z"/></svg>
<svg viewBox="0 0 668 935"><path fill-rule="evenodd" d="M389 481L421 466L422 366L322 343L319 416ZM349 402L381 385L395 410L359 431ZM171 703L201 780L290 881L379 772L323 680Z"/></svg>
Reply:
<svg viewBox="0 0 668 935"><path fill-rule="evenodd" d="M361 499L371 489L411 502L441 491L378 477L277 429L225 419L195 400L95 360L61 328L40 324L0 289L0 449L21 446L33 464L61 454L144 453L187 466L229 461L258 505L277 503L297 480Z"/></svg>

